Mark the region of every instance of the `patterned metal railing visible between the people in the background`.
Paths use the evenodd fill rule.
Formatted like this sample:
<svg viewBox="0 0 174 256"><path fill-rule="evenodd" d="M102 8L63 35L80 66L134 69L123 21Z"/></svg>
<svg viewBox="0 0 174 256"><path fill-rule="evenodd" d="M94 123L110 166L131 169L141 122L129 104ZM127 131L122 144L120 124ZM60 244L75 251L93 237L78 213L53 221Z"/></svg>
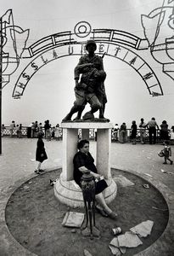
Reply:
<svg viewBox="0 0 174 256"><path fill-rule="evenodd" d="M22 126L22 130L21 130L21 137L27 137L28 136L28 127L27 126ZM132 143L132 139L131 139L131 129L126 129L127 131L127 143ZM44 132L44 130L43 130ZM62 139L63 137L63 132L62 129L59 129L60 132L60 138ZM145 142L149 143L149 130L146 129L145 130ZM35 133L35 137L36 137L37 133ZM3 129L3 137L8 137L10 136L10 127L9 126L5 126L5 129ZM17 137L17 130L16 127L14 127L14 131L13 131L13 137ZM79 131L79 137L81 137L81 129ZM169 137L171 137L171 131L169 131ZM94 129L89 129L89 139L92 141L97 140L97 132ZM138 129L137 131L137 137L136 137L136 141L137 143L139 143L140 140L140 129ZM115 132L114 130L111 131L111 142L112 143L117 143L119 142L119 131ZM160 138L160 130L156 131L156 143L162 143L162 140ZM173 142L174 143L174 142Z"/></svg>

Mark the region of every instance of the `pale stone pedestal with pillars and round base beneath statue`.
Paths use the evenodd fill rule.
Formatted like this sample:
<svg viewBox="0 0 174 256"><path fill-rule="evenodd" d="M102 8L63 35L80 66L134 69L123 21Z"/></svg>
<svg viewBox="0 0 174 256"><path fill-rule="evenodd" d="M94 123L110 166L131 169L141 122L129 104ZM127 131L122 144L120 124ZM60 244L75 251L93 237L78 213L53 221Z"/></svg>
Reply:
<svg viewBox="0 0 174 256"><path fill-rule="evenodd" d="M59 180L54 184L54 195L70 207L84 207L82 192L73 180L73 157L77 152L78 130L81 129L82 139L88 139L89 129L97 129L97 152L96 163L98 173L104 176L108 183L108 188L104 190L104 198L107 203L115 199L117 187L110 173L110 143L111 129L110 123L81 122L62 123L63 128L63 162L62 173Z"/></svg>

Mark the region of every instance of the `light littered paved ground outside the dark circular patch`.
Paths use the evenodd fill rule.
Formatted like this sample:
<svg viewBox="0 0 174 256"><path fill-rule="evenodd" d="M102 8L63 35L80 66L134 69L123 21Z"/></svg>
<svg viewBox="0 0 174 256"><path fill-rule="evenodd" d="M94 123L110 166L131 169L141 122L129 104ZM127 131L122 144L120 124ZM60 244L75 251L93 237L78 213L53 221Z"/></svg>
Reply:
<svg viewBox="0 0 174 256"><path fill-rule="evenodd" d="M48 153L42 167L47 170L61 167L62 143L57 141L45 141ZM95 143L91 143L91 152L94 154ZM157 153L162 145L132 145L131 143L111 143L111 166L138 173L149 181L153 181L159 189L166 190L166 200L170 204L170 211L174 210L174 165L163 165ZM171 146L174 160L174 146ZM5 225L4 210L8 197L14 189L20 186L28 178L35 176L36 139L3 137L3 154L0 156L0 255L25 256L34 255L25 251L20 244L14 241ZM152 177L149 177L151 175ZM173 212L170 215L171 235L173 234ZM173 238L172 238L173 239ZM167 242L166 242L167 247ZM168 243L171 247L171 241ZM140 255L140 254L139 254ZM142 254L154 256L158 254ZM171 254L161 254L171 256ZM160 254L159 254L160 256Z"/></svg>

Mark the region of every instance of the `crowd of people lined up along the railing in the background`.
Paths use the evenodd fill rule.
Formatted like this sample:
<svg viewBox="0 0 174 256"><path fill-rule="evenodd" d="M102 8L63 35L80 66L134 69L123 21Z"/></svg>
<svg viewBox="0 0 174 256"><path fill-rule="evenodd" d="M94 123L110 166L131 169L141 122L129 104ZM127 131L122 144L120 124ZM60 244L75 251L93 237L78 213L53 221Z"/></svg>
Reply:
<svg viewBox="0 0 174 256"><path fill-rule="evenodd" d="M7 127L2 125L2 137L3 134L6 134L6 129ZM22 124L15 125L15 121L12 120L11 124L8 126L8 134L10 137L13 137L15 134L15 136L21 138L22 129ZM45 120L43 125L35 121L26 127L26 136L28 138L37 137L39 132L41 132L43 137L48 141L52 138L56 140L62 139L62 129L59 127L59 124L52 126L48 119ZM158 125L154 117L148 122L145 122L144 119L141 118L139 124L137 124L136 120L132 120L131 127L127 127L125 122L123 122L120 127L118 124L115 124L112 137L114 141L119 141L120 143L131 141L132 144L136 144L139 138L142 144L147 142L149 144L155 144L157 137L160 138L160 142L174 141L174 125L172 125L170 129L166 120L163 120L161 125Z"/></svg>

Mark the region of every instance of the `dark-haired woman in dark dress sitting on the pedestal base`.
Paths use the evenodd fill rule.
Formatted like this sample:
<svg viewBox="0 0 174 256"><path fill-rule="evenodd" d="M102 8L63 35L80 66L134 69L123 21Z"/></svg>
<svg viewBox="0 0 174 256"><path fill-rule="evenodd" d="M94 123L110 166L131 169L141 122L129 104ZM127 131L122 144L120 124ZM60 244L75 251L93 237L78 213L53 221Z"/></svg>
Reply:
<svg viewBox="0 0 174 256"><path fill-rule="evenodd" d="M101 175L98 174L97 168L94 165L93 156L89 153L89 142L87 140L81 140L77 144L77 148L79 151L75 154L73 159L74 179L76 183L81 187L81 177L85 172L90 172L94 179L97 178L98 182L95 183L95 200L98 202L98 206L96 208L103 216L115 219L117 214L107 206L104 200L102 191L104 191L108 185L104 180L99 180Z"/></svg>

